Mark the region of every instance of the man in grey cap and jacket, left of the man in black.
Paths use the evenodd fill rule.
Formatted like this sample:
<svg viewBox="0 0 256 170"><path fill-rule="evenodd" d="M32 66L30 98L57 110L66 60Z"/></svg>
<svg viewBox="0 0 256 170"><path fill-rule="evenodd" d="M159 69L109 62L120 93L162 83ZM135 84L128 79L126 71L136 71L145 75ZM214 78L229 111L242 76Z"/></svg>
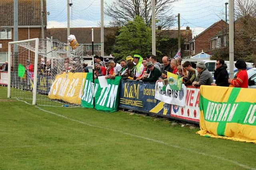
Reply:
<svg viewBox="0 0 256 170"><path fill-rule="evenodd" d="M198 72L198 76L195 81L192 82L192 86L198 87L201 85L211 85L213 82L212 74L206 69L204 61L199 61L196 64L196 70Z"/></svg>

